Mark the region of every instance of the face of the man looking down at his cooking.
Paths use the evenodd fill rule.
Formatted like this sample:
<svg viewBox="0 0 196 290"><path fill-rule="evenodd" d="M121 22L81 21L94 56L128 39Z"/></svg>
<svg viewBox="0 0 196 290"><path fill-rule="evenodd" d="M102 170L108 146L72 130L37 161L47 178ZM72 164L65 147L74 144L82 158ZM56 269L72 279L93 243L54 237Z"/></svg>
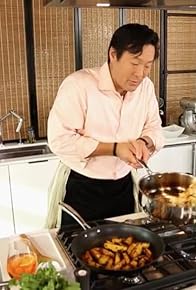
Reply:
<svg viewBox="0 0 196 290"><path fill-rule="evenodd" d="M120 94L134 91L149 75L155 56L153 45L145 45L142 54L125 51L119 60L114 48L110 48L110 73L114 86Z"/></svg>

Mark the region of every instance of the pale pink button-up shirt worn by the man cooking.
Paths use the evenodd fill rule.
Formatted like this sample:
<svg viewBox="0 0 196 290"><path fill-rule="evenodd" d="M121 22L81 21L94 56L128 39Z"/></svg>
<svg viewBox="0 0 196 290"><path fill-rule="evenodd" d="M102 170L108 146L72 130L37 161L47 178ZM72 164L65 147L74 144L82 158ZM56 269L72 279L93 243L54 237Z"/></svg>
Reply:
<svg viewBox="0 0 196 290"><path fill-rule="evenodd" d="M92 178L121 178L131 167L118 157L87 156L99 142L127 142L140 136L149 136L156 150L163 146L149 78L124 100L114 88L107 63L76 71L62 82L48 118L48 142L68 167Z"/></svg>

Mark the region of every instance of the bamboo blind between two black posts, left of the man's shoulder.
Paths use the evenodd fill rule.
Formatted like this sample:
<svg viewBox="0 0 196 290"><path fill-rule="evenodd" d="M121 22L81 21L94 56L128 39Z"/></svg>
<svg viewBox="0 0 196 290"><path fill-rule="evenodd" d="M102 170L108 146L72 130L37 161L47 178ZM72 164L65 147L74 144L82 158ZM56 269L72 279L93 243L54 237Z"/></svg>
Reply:
<svg viewBox="0 0 196 290"><path fill-rule="evenodd" d="M58 87L75 68L73 9L45 8L33 0L33 22L39 136L45 137Z"/></svg>

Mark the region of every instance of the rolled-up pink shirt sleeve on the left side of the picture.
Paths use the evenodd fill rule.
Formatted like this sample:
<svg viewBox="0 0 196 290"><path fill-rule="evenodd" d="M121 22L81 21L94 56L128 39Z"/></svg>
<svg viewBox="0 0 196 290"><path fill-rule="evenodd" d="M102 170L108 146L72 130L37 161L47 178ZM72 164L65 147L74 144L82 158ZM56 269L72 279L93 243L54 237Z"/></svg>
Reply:
<svg viewBox="0 0 196 290"><path fill-rule="evenodd" d="M59 88L48 118L49 146L68 166L79 161L84 168L98 145L97 140L85 136L85 115L85 90L68 77Z"/></svg>

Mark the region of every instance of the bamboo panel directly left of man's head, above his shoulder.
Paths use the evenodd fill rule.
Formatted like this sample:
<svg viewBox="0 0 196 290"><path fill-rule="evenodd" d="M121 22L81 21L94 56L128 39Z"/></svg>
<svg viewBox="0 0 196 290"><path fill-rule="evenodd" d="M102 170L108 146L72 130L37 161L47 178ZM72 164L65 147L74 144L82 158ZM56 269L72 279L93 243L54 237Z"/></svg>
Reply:
<svg viewBox="0 0 196 290"><path fill-rule="evenodd" d="M82 8L83 67L101 66L107 61L108 46L119 26L119 9Z"/></svg>

